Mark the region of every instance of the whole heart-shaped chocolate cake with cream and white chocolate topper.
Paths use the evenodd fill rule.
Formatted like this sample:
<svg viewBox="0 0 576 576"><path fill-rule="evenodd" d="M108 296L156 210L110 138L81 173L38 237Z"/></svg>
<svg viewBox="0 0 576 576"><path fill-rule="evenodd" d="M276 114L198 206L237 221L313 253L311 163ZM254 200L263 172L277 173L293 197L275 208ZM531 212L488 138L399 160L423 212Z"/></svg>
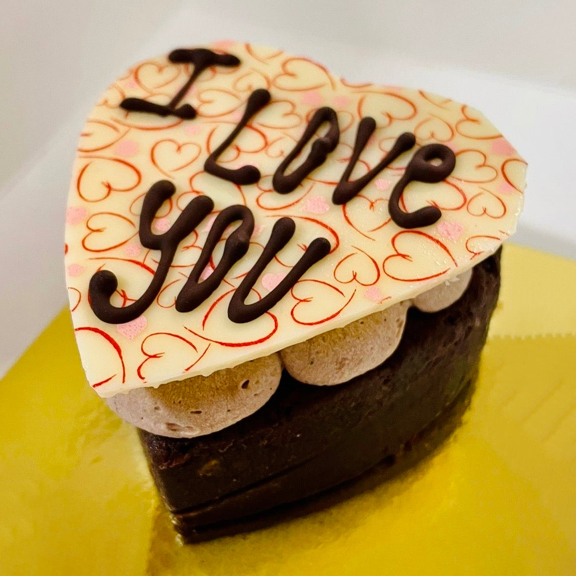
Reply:
<svg viewBox="0 0 576 576"><path fill-rule="evenodd" d="M393 461L456 402L525 168L472 108L251 44L107 90L70 187L71 314L185 539Z"/></svg>

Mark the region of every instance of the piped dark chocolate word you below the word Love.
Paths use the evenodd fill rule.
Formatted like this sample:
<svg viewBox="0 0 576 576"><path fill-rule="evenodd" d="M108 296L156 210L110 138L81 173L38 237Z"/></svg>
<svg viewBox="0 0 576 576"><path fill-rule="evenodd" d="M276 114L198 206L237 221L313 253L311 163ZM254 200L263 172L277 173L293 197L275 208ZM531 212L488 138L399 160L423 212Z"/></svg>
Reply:
<svg viewBox="0 0 576 576"><path fill-rule="evenodd" d="M147 192L142 207L139 225L141 244L151 250L160 250L160 262L156 273L146 291L137 301L123 308L117 308L110 302L112 294L118 288L118 278L113 272L100 270L90 279L88 289L90 306L98 319L110 324L123 324L138 318L154 302L168 274L170 265L180 242L190 234L204 218L214 209L214 202L209 196L198 196L182 211L176 222L164 234L154 234L152 223L162 203L168 200L176 191L168 180L160 180ZM218 266L203 282L200 276L210 262L214 248L221 239L223 232L234 222L240 225L226 238L224 251ZM190 312L198 308L217 289L230 268L247 252L250 237L254 230L252 211L245 206L236 204L221 211L210 228L206 243L202 248L198 262L180 290L176 298L178 312ZM228 306L228 317L236 323L255 320L276 305L295 285L301 276L316 262L323 259L330 251L330 242L326 238L316 238L300 260L290 270L286 277L274 287L262 300L245 304L248 294L260 277L264 268L276 254L286 246L294 236L295 224L291 218L280 218L273 226L262 255L234 291Z"/></svg>

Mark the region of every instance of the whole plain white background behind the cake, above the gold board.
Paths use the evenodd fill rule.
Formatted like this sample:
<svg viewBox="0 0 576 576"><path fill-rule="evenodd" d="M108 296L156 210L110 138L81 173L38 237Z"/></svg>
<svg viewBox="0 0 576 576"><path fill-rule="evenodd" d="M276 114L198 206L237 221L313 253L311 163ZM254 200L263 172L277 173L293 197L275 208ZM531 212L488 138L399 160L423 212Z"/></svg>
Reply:
<svg viewBox="0 0 576 576"><path fill-rule="evenodd" d="M481 109L529 163L516 240L576 257L573 0L0 0L0 376L65 305L70 166L138 59L232 38Z"/></svg>

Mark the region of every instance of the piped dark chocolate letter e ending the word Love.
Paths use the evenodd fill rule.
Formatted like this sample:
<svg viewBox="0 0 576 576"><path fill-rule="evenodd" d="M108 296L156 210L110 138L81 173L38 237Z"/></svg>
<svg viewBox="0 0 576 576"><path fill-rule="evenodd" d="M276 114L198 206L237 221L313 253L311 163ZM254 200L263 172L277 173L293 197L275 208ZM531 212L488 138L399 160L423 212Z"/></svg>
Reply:
<svg viewBox="0 0 576 576"><path fill-rule="evenodd" d="M440 164L431 164L440 160ZM404 176L396 183L388 200L388 212L392 220L401 228L423 228L437 222L442 212L436 206L425 206L407 213L400 208L400 196L404 188L413 181L437 183L452 173L456 165L456 156L448 146L429 144L422 146L406 168Z"/></svg>

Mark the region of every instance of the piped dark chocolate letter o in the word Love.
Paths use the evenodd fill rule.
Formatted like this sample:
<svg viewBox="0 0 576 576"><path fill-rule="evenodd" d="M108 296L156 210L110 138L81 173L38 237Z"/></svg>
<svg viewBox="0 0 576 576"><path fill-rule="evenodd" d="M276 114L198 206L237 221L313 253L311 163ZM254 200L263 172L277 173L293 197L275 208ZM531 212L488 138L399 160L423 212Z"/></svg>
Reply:
<svg viewBox="0 0 576 576"><path fill-rule="evenodd" d="M320 128L325 122L329 123L328 130L323 137L317 138L312 144L312 149L308 157L298 168L294 169L289 175L286 175L286 169L290 166L294 158L301 153L304 146L310 141L310 138L316 134L316 130ZM309 175L314 168L318 168L324 163L328 154L338 146L340 138L340 130L338 127L338 117L332 108L320 108L306 126L306 130L302 138L295 144L294 149L284 158L282 163L276 168L274 177L272 178L272 185L276 192L280 194L288 194L297 188L298 184Z"/></svg>

